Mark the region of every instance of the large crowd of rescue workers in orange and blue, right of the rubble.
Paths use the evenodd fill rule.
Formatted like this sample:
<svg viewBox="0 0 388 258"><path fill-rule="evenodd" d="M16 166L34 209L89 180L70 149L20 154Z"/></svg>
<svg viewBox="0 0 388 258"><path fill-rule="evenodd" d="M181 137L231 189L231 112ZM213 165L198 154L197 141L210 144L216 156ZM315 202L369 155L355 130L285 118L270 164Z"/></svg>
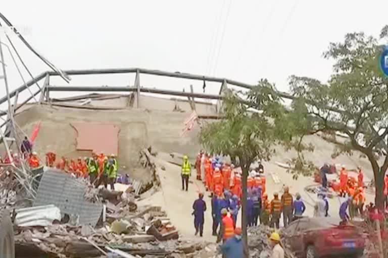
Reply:
<svg viewBox="0 0 388 258"><path fill-rule="evenodd" d="M211 208L213 217L213 235L217 236L217 242L232 238L236 232L237 215L241 207L242 195L242 171L235 168L231 162L224 161L218 155L213 156L201 151L196 159L195 169L197 171L197 180L204 183L206 191L211 193ZM182 190L188 190L188 179L191 176L191 164L187 156L183 157L181 167ZM330 216L329 202L327 197L327 178L330 173L330 166L324 164L320 168L320 178L323 189L317 193L318 199L314 204L314 217ZM344 223L353 219L355 216L368 216L375 208L373 204L365 205L365 186L364 174L361 167L358 167L357 179L348 175L345 165L342 165L340 171L340 182L337 185L330 185L338 192L340 197L346 198L339 211L340 218ZM385 191L388 190L388 176L385 180ZM266 176L264 166L261 162L256 168L252 168L247 178L247 220L248 226L257 226L259 224L267 225L272 228L280 227L280 218L282 216L283 226L286 227L290 222L303 217L306 211L304 201L299 193L293 195L289 192L287 186L283 186L282 195L278 192L273 193L273 199L269 200L266 192ZM204 193L199 193L199 199L193 204L192 215L195 216L195 234L203 236L204 213L207 209L203 200ZM349 213L348 213L349 211ZM218 227L220 229L218 230ZM217 232L218 231L218 232ZM240 229L238 228L238 233ZM277 239L276 233L272 236ZM273 239L272 239L273 240ZM276 242L276 241L275 241Z"/></svg>

